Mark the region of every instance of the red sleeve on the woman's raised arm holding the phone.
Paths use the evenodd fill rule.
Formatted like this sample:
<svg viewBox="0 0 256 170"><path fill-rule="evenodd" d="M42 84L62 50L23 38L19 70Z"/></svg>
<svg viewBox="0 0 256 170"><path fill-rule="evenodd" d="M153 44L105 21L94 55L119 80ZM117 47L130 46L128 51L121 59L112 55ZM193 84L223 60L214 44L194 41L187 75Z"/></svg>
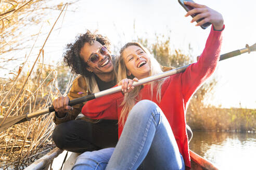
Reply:
<svg viewBox="0 0 256 170"><path fill-rule="evenodd" d="M225 25L223 26L224 29ZM206 46L196 63L191 64L181 75L182 93L186 101L212 75L220 59L222 31L214 31L211 27Z"/></svg>

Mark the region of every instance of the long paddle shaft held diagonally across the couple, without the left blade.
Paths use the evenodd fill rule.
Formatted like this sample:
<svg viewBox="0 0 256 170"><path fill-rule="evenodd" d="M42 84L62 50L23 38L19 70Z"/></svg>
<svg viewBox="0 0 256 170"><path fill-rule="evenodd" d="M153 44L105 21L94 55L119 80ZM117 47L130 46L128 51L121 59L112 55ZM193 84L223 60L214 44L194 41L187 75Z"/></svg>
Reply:
<svg viewBox="0 0 256 170"><path fill-rule="evenodd" d="M256 44L254 44L253 46L255 46L255 45ZM237 55L240 55L240 54L246 53L246 52L250 52L250 47L248 45L247 45L247 48L243 48L243 49L240 49L240 50L235 50L235 51L232 51L232 52L222 54L220 56L219 61L229 59L229 58L232 58L233 56L237 56ZM158 74L158 75L153 75L153 76L150 76L150 77L147 77L147 78L140 79L140 80L138 80L138 82L133 82L133 86L134 87L140 86L142 84L145 84L145 83L148 83L148 82L151 82L151 81L155 81L155 80L158 80L158 79L161 79L161 78L165 78L165 77L168 77L168 76L171 76L171 75L174 75L174 74L182 73L186 70L186 68L189 65L190 64L188 64L186 66L182 66L182 67L178 67L178 68L169 70L167 72L163 72L163 73ZM93 93L93 94L90 94L90 95L86 95L86 96L83 96L83 97L80 97L80 98L76 98L75 100L69 101L69 106L73 106L73 105L80 104L80 103L83 103L83 102L91 101L91 100L93 100L95 98L98 98L98 97L101 97L101 96L105 96L105 95L108 95L108 94L113 94L113 93L116 93L116 92L120 92L121 90L122 90L122 87L118 86L118 87L110 88L110 89L100 91L100 92L97 92L97 93ZM38 110L38 111L32 112L30 114L27 114L27 119L30 120L31 118L34 118L34 117L37 117L37 116L40 116L40 115L44 115L44 114L48 114L48 113L53 112L53 111L55 111L54 107L50 106L50 107L45 108L43 110Z"/></svg>

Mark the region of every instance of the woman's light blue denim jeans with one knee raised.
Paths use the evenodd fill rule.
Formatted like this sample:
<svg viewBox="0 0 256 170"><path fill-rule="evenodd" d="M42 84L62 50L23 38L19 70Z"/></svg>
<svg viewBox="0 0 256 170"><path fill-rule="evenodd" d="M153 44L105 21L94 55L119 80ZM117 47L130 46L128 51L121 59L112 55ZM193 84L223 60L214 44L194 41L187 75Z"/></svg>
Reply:
<svg viewBox="0 0 256 170"><path fill-rule="evenodd" d="M171 126L157 104L143 100L130 111L116 148L82 153L78 169L185 169Z"/></svg>

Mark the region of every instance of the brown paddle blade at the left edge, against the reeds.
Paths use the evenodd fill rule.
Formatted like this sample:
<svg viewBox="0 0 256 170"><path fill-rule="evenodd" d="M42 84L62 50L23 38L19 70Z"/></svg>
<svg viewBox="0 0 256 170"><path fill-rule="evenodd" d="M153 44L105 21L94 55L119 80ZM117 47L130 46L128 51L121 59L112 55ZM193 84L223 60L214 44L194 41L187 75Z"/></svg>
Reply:
<svg viewBox="0 0 256 170"><path fill-rule="evenodd" d="M4 118L1 118L0 122L2 122L3 120L4 120ZM0 126L0 133L7 130L12 125L15 125L15 124L18 124L18 123L21 123L21 122L25 122L25 121L28 121L27 120L27 115L14 116L14 117L6 118L4 123Z"/></svg>

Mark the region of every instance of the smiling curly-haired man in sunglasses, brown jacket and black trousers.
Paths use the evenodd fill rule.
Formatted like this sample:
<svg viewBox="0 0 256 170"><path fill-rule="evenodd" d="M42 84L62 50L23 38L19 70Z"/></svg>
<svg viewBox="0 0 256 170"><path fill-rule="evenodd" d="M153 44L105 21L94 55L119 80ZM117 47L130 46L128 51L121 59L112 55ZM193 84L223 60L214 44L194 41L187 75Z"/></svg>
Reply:
<svg viewBox="0 0 256 170"><path fill-rule="evenodd" d="M118 141L117 120L91 120L80 117L82 104L68 106L69 100L96 93L116 84L113 60L107 37L87 31L68 44L63 54L64 62L79 76L73 81L68 96L53 101L54 122L57 126L53 140L57 147L72 152L93 151L114 147Z"/></svg>

